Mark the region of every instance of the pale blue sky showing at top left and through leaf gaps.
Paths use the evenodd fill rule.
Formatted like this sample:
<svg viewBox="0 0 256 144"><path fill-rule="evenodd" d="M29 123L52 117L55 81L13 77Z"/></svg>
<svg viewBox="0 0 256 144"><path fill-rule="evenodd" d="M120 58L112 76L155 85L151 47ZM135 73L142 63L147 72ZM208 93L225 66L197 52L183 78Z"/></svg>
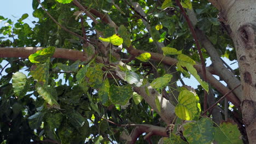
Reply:
<svg viewBox="0 0 256 144"><path fill-rule="evenodd" d="M28 18L25 19L23 22L28 23L28 25L33 27L32 21L37 21L37 18L33 17L33 9L32 9L32 0L8 0L8 1L0 1L0 15L4 16L5 18L8 17L12 21L16 22L16 20L20 19L20 17L27 13ZM3 26L4 23L0 22L0 27ZM223 60L228 63L229 65L231 63L234 63L235 61L229 61L228 58L223 58ZM207 58L206 60L207 66L211 64L210 58ZM2 62L1 65L4 67L4 65L7 64L7 62ZM232 64L230 65L232 69L236 69L238 67L238 64ZM7 67L8 68L8 67ZM3 71L4 72L4 71ZM23 72L23 71L22 71ZM6 73L3 73L6 74ZM218 76L216 76L218 79ZM184 78L183 81L194 88L197 88L197 85L199 83L192 77L192 79ZM178 82L178 85L181 86L181 82Z"/></svg>

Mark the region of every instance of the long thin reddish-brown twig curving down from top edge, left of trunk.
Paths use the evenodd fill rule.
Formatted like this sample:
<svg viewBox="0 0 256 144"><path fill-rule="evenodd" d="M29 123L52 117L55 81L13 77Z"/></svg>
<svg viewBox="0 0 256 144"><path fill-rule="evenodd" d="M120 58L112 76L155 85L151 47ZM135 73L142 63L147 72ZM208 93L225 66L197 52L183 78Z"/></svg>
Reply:
<svg viewBox="0 0 256 144"><path fill-rule="evenodd" d="M188 15L186 14L184 8L182 7L181 2L179 2L179 0L175 0L175 1L176 1L176 3L177 3L178 7L181 9L181 13L182 13L183 16L185 17L185 20L187 21L188 26L189 26L189 28L190 28L190 31L191 31L191 33L192 33L192 35L193 35L194 40L195 40L196 47L197 47L197 51L198 51L198 53L199 53L200 60L201 60L201 64L202 64L203 79L207 82L206 68L205 68L205 60L203 59L201 47L200 47L199 41L198 41L198 39L197 39L197 36L196 36L195 30L194 30L194 27L193 27L191 21L189 20L189 17L188 17ZM206 110L206 109L207 109L207 92L204 91L203 110Z"/></svg>

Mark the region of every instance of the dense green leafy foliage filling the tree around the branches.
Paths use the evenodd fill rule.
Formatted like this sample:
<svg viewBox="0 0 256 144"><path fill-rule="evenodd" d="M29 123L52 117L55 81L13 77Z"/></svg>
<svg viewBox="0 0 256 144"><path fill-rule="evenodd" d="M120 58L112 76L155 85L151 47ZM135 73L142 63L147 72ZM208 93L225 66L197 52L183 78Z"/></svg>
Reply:
<svg viewBox="0 0 256 144"><path fill-rule="evenodd" d="M185 139L177 135L177 130L177 133L170 134L170 138L165 138L164 143L211 143L213 140L242 143L236 125L222 123L213 127L210 118L200 118L202 88L207 92L214 88L203 81L194 68L200 59L194 50L190 30L174 1L161 1L161 5L153 0L138 1L146 12L147 17L144 18L133 11L126 1L79 1L88 10L109 15L119 26L117 29L106 23L108 16L96 19L99 23L95 23L89 20L88 15L78 14L79 8L71 2L49 0L42 2L42 5L62 27L83 35L83 38L92 41L91 44L57 25L37 0L32 3L33 16L38 18L37 22L32 22L33 26L23 22L28 14L22 15L17 22L0 16L6 24L0 28L1 47L46 47L31 54L28 59L4 58L10 68L4 69L5 74L1 71L0 143L40 143L47 140L59 143L125 143L120 135L122 131L131 132L132 128L117 124L166 126L166 123L159 121L157 113L162 111L162 101L149 93L148 86L156 89L159 95L166 93L173 97L173 93L178 92L179 95L173 98L176 101L172 101L177 103L177 117L182 121L194 120L179 126L176 122L176 128L184 129L182 136ZM220 55L234 59L234 50L223 48L232 45L232 42L213 18L217 10L205 1L183 1L182 5L189 9L193 6L199 19L197 27L210 35ZM172 15L166 11L170 7L176 9ZM147 25L144 21L148 22ZM107 49L97 45L100 40ZM159 43L165 46L159 49ZM86 44L88 46L84 47ZM131 46L140 50L138 55L133 56L128 51ZM56 47L83 51L88 53L90 59L82 62L82 59L54 58ZM152 61L152 57L157 57L152 52L161 51L164 58L176 58L177 63L165 69L166 65L162 63L164 58L158 63ZM209 56L205 54L203 57ZM127 58L130 61L126 64L118 64L118 61ZM2 61L3 58L0 59ZM169 69L176 69L174 73L178 77L174 79L175 74ZM182 81L182 75L190 77L190 74L201 85L196 89L197 94L176 85ZM135 92L135 88L143 88L147 97L154 98L157 110L152 110L142 95ZM214 95L216 99L221 96L217 91ZM171 98L168 100L171 101ZM157 143L159 138L152 137L152 143ZM139 137L137 142L144 143L144 139Z"/></svg>

